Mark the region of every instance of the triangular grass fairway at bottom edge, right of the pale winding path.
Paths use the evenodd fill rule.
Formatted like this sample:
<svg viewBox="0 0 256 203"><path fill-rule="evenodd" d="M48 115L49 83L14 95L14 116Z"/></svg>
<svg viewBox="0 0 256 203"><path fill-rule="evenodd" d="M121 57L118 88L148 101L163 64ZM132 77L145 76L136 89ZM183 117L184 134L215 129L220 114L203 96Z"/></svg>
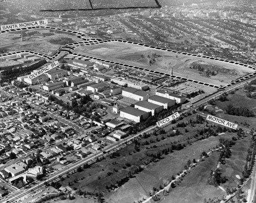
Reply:
<svg viewBox="0 0 256 203"><path fill-rule="evenodd" d="M214 170L219 159L218 152L213 153L205 161L200 162L183 181L164 196L161 203L203 203L204 198L214 198L225 195L225 192L207 183L210 170Z"/></svg>

